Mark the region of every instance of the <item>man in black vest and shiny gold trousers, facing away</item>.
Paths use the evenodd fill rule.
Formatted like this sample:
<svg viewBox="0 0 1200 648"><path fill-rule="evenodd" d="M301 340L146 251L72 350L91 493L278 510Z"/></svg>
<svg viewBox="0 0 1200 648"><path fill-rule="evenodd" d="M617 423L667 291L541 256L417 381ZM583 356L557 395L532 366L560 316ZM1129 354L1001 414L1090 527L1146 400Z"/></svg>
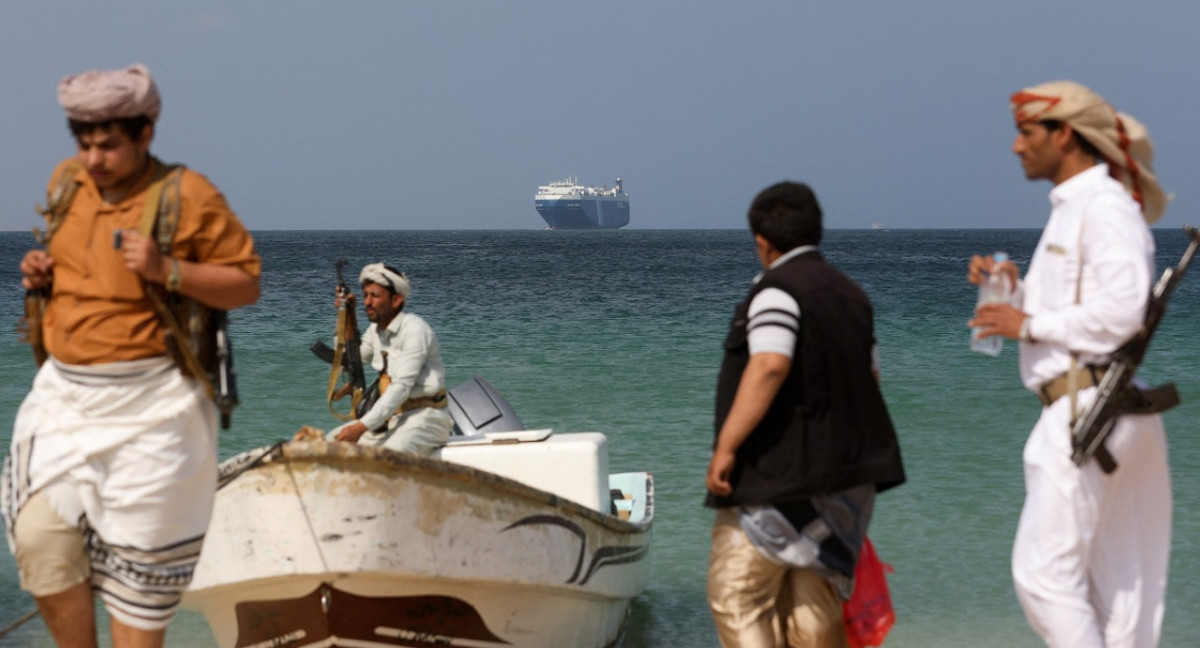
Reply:
<svg viewBox="0 0 1200 648"><path fill-rule="evenodd" d="M871 302L817 250L808 186L767 187L749 218L764 271L734 311L716 386L708 602L725 648L841 648L875 494L905 480Z"/></svg>

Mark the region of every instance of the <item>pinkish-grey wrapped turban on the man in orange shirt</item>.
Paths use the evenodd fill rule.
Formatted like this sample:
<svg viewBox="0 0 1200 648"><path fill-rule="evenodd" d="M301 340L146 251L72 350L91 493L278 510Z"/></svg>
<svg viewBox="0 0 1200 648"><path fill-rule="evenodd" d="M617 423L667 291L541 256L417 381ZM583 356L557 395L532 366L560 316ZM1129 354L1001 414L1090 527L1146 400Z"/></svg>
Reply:
<svg viewBox="0 0 1200 648"><path fill-rule="evenodd" d="M91 124L140 115L155 122L162 108L158 88L142 64L64 77L59 82L59 104L68 118Z"/></svg>

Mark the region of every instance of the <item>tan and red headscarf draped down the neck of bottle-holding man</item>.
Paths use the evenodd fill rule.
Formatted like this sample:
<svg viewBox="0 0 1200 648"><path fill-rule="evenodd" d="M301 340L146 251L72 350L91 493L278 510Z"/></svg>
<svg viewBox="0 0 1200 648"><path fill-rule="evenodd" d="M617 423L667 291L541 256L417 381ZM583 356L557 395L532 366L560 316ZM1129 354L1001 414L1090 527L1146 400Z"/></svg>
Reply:
<svg viewBox="0 0 1200 648"><path fill-rule="evenodd" d="M1112 176L1141 205L1147 223L1166 211L1171 197L1163 192L1154 176L1154 144L1146 127L1132 115L1118 113L1104 97L1075 82L1026 88L1010 101L1018 124L1061 121L1096 146Z"/></svg>

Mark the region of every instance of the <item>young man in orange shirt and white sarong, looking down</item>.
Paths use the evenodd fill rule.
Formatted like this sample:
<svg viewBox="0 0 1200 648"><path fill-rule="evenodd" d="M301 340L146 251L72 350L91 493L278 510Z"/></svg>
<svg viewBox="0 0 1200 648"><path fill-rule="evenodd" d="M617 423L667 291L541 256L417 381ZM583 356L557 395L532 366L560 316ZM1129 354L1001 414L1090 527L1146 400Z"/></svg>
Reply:
<svg viewBox="0 0 1200 648"><path fill-rule="evenodd" d="M144 66L64 78L59 103L78 155L48 191L54 202L64 179L73 186L65 216L48 216L46 250L20 263L26 289L49 289L49 359L13 425L6 532L59 646L96 646L95 590L114 646L158 647L199 557L217 448L212 403L168 354L150 292L246 306L262 262L224 197L192 170L179 175L169 253L139 233L170 170L149 151L160 98Z"/></svg>

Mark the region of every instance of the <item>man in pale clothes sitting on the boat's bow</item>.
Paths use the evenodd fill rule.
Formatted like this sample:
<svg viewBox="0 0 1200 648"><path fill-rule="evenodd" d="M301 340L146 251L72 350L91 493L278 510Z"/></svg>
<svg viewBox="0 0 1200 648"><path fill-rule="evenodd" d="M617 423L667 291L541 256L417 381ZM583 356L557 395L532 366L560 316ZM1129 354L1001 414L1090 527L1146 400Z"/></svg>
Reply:
<svg viewBox="0 0 1200 648"><path fill-rule="evenodd" d="M454 427L446 413L445 365L433 329L404 312L412 292L408 276L383 263L362 268L362 307L371 325L362 334L362 362L379 372L379 398L358 419L334 428L332 440L379 445L431 455ZM354 294L338 294L354 307ZM347 384L335 397L350 391Z"/></svg>

